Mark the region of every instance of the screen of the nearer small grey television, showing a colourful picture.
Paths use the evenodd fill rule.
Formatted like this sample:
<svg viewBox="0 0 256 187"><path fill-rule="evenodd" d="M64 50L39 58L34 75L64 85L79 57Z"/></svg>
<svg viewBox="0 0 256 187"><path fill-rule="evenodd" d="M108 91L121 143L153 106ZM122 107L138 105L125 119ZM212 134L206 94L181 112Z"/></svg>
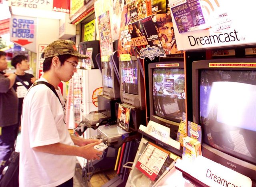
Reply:
<svg viewBox="0 0 256 187"><path fill-rule="evenodd" d="M138 62L120 61L121 91L138 95Z"/></svg>

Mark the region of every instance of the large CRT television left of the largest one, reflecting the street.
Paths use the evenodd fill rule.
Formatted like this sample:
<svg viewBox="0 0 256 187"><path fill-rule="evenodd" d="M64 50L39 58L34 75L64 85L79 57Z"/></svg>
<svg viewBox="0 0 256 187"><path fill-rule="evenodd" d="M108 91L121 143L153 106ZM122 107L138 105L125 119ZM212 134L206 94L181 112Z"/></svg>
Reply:
<svg viewBox="0 0 256 187"><path fill-rule="evenodd" d="M170 128L176 140L186 112L184 61L148 64L150 120Z"/></svg>

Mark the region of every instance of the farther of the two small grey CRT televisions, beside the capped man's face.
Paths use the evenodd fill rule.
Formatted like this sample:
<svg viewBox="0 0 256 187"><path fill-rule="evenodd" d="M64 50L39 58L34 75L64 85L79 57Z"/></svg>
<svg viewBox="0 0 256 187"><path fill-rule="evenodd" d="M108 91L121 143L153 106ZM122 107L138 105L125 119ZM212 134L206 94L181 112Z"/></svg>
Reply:
<svg viewBox="0 0 256 187"><path fill-rule="evenodd" d="M110 61L101 62L103 94L111 99L120 98L120 85Z"/></svg>

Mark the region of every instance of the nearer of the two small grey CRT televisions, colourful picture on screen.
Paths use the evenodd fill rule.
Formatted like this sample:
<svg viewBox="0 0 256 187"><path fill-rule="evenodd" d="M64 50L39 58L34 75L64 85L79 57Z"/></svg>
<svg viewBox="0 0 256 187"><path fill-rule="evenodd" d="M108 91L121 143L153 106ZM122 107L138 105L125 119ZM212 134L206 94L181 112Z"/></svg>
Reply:
<svg viewBox="0 0 256 187"><path fill-rule="evenodd" d="M130 61L119 61L120 96L122 103L135 108L145 107L144 79L135 56Z"/></svg>

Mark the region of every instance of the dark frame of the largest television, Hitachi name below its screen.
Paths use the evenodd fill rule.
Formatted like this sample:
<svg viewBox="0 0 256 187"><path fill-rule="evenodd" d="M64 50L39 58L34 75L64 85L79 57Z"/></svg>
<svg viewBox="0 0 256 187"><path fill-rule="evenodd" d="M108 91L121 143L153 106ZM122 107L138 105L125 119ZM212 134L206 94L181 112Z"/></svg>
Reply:
<svg viewBox="0 0 256 187"><path fill-rule="evenodd" d="M200 60L192 63L192 100L193 100L193 122L199 124L199 97L200 97L200 71L202 70L245 70L256 71L255 68L248 67L209 67L209 63L256 63L256 58L230 58L230 59L214 59L214 60ZM204 131L204 126L202 126ZM254 182L256 181L256 165L224 153L211 145L204 143L204 136L202 135L202 155L220 163L238 173L250 177Z"/></svg>

